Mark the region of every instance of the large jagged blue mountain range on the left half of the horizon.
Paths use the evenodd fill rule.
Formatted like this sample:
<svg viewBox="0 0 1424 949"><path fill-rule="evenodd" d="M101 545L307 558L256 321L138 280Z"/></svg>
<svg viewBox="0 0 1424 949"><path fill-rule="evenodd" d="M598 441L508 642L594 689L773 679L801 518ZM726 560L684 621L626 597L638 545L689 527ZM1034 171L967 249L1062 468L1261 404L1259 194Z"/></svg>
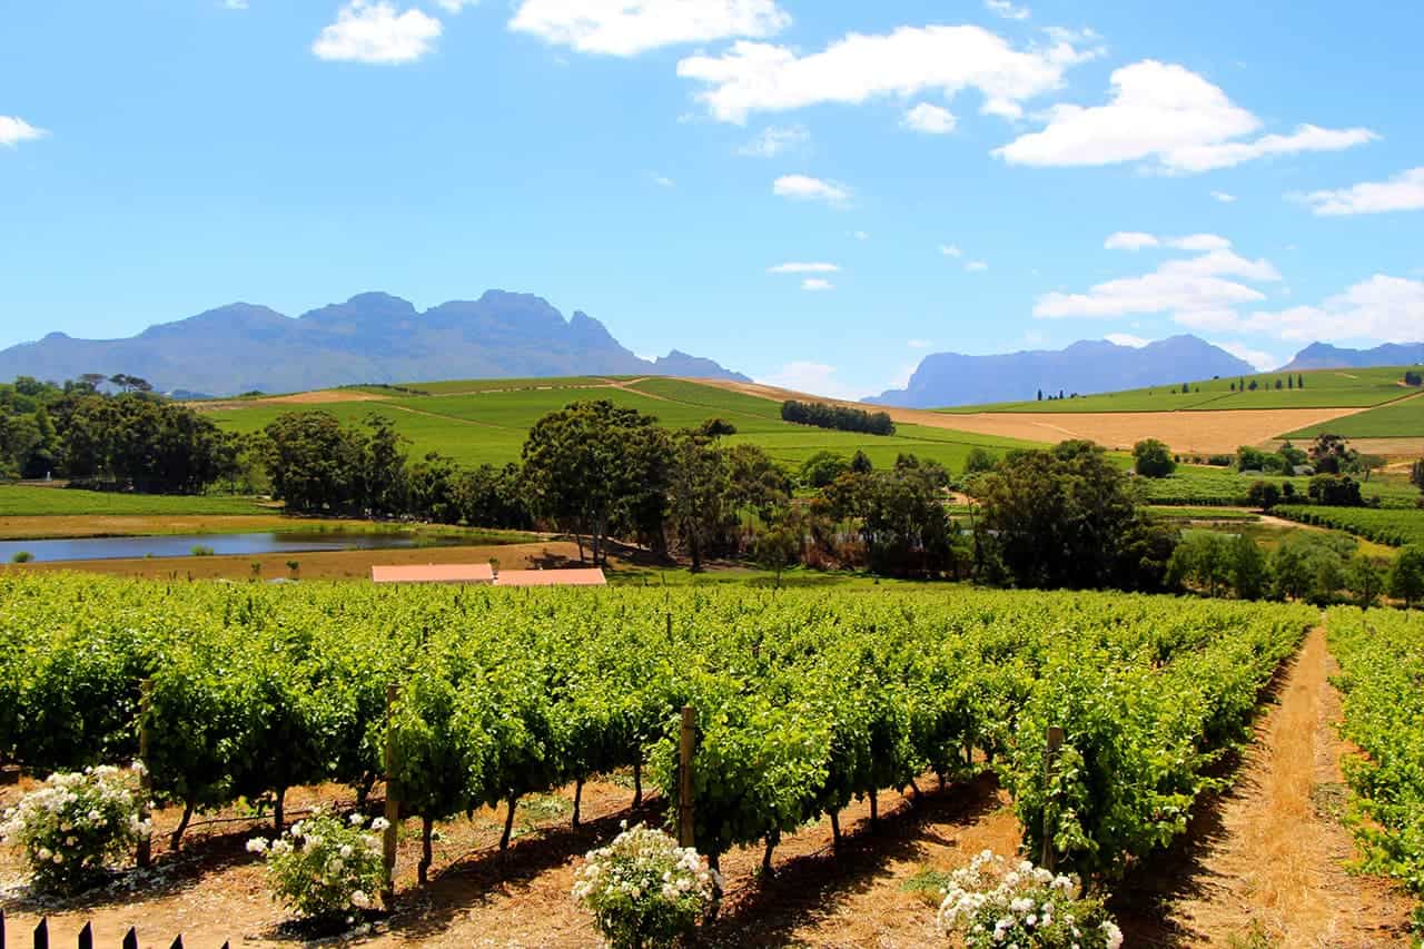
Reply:
<svg viewBox="0 0 1424 949"><path fill-rule="evenodd" d="M50 333L0 351L0 379L127 373L172 392L235 395L431 379L580 375L746 376L674 349L655 361L624 348L592 316L564 319L528 294L488 291L424 312L360 294L302 316L232 304L128 339Z"/></svg>

